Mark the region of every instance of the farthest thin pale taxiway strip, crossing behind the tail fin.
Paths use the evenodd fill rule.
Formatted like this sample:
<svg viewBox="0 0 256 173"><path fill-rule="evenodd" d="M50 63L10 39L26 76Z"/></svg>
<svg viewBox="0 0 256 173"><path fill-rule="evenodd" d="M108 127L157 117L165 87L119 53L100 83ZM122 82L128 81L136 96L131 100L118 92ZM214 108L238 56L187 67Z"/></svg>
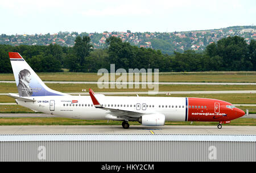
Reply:
<svg viewBox="0 0 256 173"><path fill-rule="evenodd" d="M44 83L75 83L75 84L146 84L146 85L256 85L254 82L76 82L76 81L43 81ZM15 83L15 81L0 81L0 83Z"/></svg>

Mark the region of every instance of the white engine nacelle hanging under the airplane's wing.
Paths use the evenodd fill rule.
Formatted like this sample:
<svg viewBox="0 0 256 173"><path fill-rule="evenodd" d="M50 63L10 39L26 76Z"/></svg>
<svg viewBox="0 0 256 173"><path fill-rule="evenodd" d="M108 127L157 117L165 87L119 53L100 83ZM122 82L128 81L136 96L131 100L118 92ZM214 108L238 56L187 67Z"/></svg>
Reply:
<svg viewBox="0 0 256 173"><path fill-rule="evenodd" d="M144 126L162 126L166 121L166 116L160 113L142 115L139 118L139 123Z"/></svg>

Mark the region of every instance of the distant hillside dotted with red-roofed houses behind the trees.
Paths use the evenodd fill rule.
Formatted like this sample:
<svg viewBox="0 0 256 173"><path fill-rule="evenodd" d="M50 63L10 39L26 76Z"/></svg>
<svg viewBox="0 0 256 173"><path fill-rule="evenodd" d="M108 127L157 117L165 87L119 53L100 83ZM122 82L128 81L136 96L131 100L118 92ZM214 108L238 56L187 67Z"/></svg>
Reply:
<svg viewBox="0 0 256 173"><path fill-rule="evenodd" d="M105 48L105 40L110 36L119 37L131 45L143 48L160 49L162 53L173 54L184 50L204 50L207 45L229 36L244 37L247 44L256 39L256 26L234 26L220 29L183 32L108 32L77 33L59 32L35 35L5 35L0 36L0 44L8 45L49 45L73 47L77 36L89 36L94 49Z"/></svg>

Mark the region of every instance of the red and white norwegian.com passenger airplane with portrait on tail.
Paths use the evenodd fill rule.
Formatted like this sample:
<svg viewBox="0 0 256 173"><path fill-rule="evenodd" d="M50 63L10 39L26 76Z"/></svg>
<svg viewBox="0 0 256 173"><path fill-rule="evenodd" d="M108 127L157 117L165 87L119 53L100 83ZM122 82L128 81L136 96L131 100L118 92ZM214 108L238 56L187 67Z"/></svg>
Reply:
<svg viewBox="0 0 256 173"><path fill-rule="evenodd" d="M17 52L9 52L19 95L9 93L20 106L51 115L83 120L138 121L143 126L163 126L166 121L213 121L222 124L245 115L233 104L216 99L105 96L89 89L89 96L74 96L48 88Z"/></svg>

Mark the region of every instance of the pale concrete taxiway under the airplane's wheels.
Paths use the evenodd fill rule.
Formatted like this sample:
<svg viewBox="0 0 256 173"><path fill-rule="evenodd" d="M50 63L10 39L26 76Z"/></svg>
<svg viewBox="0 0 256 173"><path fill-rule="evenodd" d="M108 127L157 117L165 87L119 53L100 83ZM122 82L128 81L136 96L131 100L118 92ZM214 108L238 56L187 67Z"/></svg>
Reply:
<svg viewBox="0 0 256 173"><path fill-rule="evenodd" d="M256 135L256 126L217 126L201 125L166 125L140 126L131 125L123 129L121 125L26 125L0 126L0 134L240 134Z"/></svg>

